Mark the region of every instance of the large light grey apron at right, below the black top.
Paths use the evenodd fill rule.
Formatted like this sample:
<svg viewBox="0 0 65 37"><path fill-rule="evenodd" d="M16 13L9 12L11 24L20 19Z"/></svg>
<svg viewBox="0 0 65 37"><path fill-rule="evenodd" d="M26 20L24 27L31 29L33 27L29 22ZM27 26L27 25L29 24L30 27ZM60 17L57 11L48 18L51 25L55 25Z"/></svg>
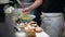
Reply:
<svg viewBox="0 0 65 37"><path fill-rule="evenodd" d="M41 27L50 37L62 37L64 18L62 13L44 13Z"/></svg>

